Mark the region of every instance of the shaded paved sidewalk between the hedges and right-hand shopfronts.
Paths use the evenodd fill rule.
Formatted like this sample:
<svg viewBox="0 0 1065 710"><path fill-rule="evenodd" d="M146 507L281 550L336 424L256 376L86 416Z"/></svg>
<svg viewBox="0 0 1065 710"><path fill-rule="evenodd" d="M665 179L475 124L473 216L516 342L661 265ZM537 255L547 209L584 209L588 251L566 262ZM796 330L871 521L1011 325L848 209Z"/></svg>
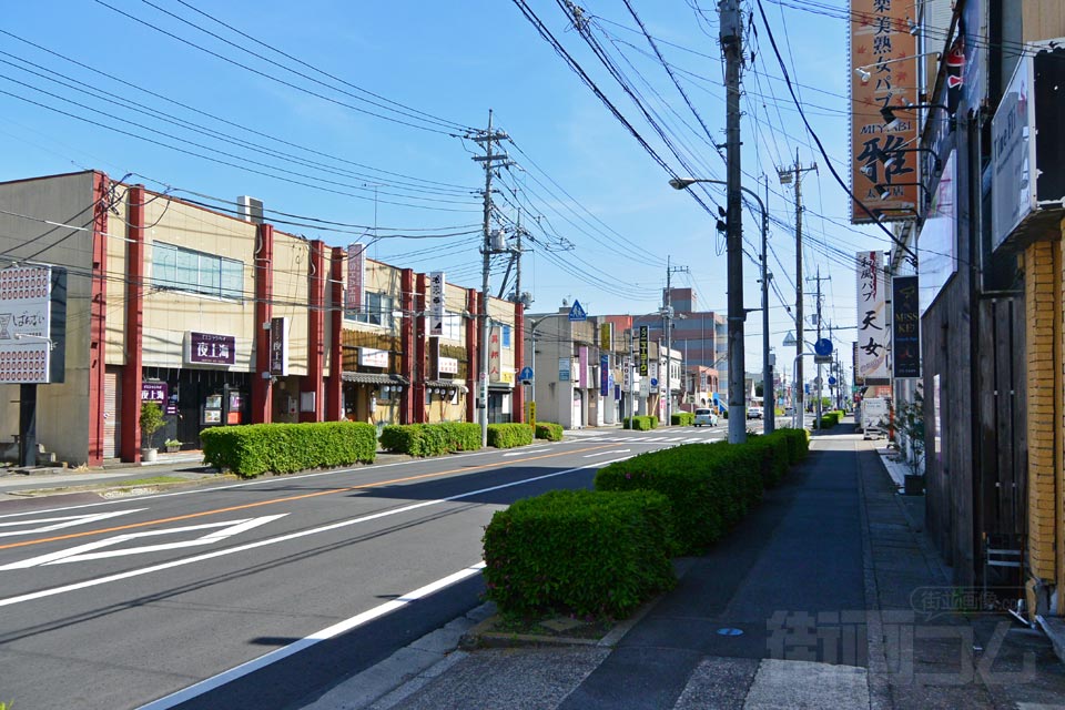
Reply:
<svg viewBox="0 0 1065 710"><path fill-rule="evenodd" d="M876 445L850 425L818 434L620 638L455 650L486 605L306 708L1065 708L1045 636L950 611L957 590L923 534L924 498L899 495Z"/></svg>

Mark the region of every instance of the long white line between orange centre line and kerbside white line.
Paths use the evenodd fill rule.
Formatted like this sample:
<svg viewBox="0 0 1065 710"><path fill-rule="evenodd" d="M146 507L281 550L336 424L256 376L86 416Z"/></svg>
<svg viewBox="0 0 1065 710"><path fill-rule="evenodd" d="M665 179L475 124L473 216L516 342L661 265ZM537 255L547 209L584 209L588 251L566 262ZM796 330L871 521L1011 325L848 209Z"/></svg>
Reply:
<svg viewBox="0 0 1065 710"><path fill-rule="evenodd" d="M165 569L173 569L175 567L184 567L185 565L191 565L193 562L201 562L209 559L214 559L216 557L225 557L227 555L234 555L236 552L243 552L245 550L252 550L258 547L266 547L268 545L277 545L280 542L287 542L288 540L295 540L302 537L307 537L310 535L317 535L318 532L328 532L331 530L337 530L341 528L346 528L352 525L358 525L359 523L368 523L369 520L377 520L379 518L387 518L389 516L399 515L400 513L409 513L410 510L417 510L418 508L425 508L428 506L437 506L450 500L462 500L463 498L469 498L471 496L479 496L485 493L491 493L495 490L503 490L504 488L513 488L514 486L523 486L525 484L535 483L537 480L545 480L547 478L554 478L556 476L565 476L567 474L572 474L586 468L598 468L600 466L606 466L612 464L615 460L625 460L629 458L628 456L622 456L621 458L616 458L609 462L596 462L592 464L586 464L585 466L578 466L576 468L568 468L566 470L556 471L554 474L544 474L542 476L534 476L531 478L523 478L521 480L515 480L508 484L500 484L498 486L490 486L488 488L480 488L478 490L469 490L467 493L457 494L449 496L447 498L439 498L436 500L424 500L422 503L415 503L408 506L403 506L400 508L394 508L392 510L383 510L381 513L373 513L371 515L364 515L358 518L351 518L348 520L339 520L337 523L331 523L329 525L324 525L320 528L311 528L307 530L298 530L296 532L288 532L286 535L280 535L277 537L267 538L265 540L256 540L254 542L245 542L244 545L237 545L235 547L230 547L224 550L214 550L211 552L203 552L202 555L195 555L193 557L186 557L183 559L175 559L169 562L161 562L159 565L152 565L150 567L144 567L141 569L131 569L124 572L118 572L115 575L108 575L106 577L98 577L97 579L87 579L84 581L74 582L72 585L63 585L62 587L53 587L51 589L41 589L39 591L31 591L29 594L19 595L17 597L8 597L7 599L0 599L0 607L11 607L17 604L22 604L26 601L32 601L34 599L43 599L44 597L54 597L57 595L67 594L69 591L77 591L79 589L88 589L90 587L98 587L100 585L108 585L113 581L121 581L123 579L130 579L132 577L140 577L141 575L150 575L158 571L163 571Z"/></svg>

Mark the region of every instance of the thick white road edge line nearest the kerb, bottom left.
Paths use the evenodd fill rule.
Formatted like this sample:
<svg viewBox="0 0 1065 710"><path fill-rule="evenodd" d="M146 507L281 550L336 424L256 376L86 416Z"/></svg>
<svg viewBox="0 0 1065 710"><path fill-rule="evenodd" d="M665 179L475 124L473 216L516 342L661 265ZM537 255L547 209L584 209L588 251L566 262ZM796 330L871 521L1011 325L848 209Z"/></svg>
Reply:
<svg viewBox="0 0 1065 710"><path fill-rule="evenodd" d="M440 589L450 587L452 585L460 582L464 579L473 577L474 575L478 574L481 569L484 569L484 567L485 567L484 562L477 562L476 565L471 565L465 569L460 569L457 572L448 575L447 577L437 579L436 581L430 582L424 587L419 587L414 591L408 591L407 594L403 595L398 599L386 601L383 605L374 607L373 609L369 609L367 611L363 611L362 613L358 613L349 619L345 619L338 623L334 623L331 627L326 627L321 631L315 631L311 636L302 638L298 641L290 643L288 646L275 649L266 653L265 656L260 656L258 658L250 660L246 663L241 663L236 668L231 668L230 670L223 671L217 676L212 676L211 678L201 680L199 683L189 686L183 690L179 690L178 692L171 693L169 696L160 698L159 700L150 702L146 706L141 706L140 710L166 710L168 708L173 708L183 702L187 702L193 698L197 698L204 693L207 693L214 690L215 688L220 688L227 682L236 680L237 678L243 678L244 676L253 673L261 668L265 668L271 663L276 663L277 661L288 658L290 656L293 656L295 653L298 653L302 650L308 649L312 646L315 646L316 643L321 643L322 641L327 641L328 639L337 637L341 633L351 631L352 629L356 629L361 626L365 626L366 623L373 621L374 619L377 619L385 615L392 613L393 611L397 611L398 609L402 609L403 607L407 606L412 601L417 601L418 599L428 597L429 595L436 591L439 591Z"/></svg>

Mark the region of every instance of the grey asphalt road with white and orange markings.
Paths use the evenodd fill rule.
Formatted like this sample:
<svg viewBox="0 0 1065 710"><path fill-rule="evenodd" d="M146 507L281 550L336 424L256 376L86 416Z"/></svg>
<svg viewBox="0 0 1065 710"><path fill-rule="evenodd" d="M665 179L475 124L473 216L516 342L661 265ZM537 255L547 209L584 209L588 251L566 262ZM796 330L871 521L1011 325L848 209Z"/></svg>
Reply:
<svg viewBox="0 0 1065 710"><path fill-rule="evenodd" d="M0 515L0 700L300 707L479 604L491 514L724 427L487 449Z"/></svg>

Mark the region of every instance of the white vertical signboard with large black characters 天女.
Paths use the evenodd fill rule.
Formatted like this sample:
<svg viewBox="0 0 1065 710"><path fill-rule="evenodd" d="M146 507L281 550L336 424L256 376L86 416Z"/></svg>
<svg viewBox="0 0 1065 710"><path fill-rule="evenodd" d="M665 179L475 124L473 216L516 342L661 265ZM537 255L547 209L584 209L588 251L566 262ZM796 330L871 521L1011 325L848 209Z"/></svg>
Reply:
<svg viewBox="0 0 1065 710"><path fill-rule="evenodd" d="M866 385L891 383L888 372L888 276L881 252L858 253L858 371Z"/></svg>

